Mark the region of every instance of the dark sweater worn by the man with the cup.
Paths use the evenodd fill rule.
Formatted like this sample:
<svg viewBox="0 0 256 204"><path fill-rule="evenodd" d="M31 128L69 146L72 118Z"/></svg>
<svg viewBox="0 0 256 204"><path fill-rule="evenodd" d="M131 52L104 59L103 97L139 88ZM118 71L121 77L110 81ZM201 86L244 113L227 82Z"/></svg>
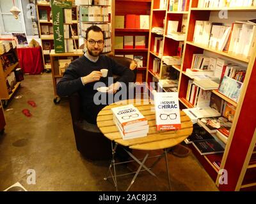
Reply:
<svg viewBox="0 0 256 204"><path fill-rule="evenodd" d="M102 68L108 69L108 77L113 77L113 74L119 75L118 82L128 84L134 78L131 69L125 68L106 55L100 55L97 62L92 62L83 55L72 61L66 69L56 87L58 96L70 96L78 92L83 106L92 105L93 96L97 92L97 90L93 90L93 85L96 82L83 85L81 77L89 75L92 71L100 71ZM108 86L108 84L106 85Z"/></svg>

